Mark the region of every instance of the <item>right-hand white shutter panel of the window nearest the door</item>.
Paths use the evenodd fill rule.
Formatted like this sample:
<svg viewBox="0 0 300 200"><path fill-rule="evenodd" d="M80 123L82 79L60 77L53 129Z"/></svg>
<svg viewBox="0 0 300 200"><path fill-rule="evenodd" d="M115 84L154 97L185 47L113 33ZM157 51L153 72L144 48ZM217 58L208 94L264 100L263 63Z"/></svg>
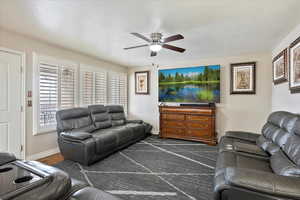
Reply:
<svg viewBox="0 0 300 200"><path fill-rule="evenodd" d="M61 68L61 81L60 81L60 108L73 108L76 104L75 96L75 70L68 67Z"/></svg>

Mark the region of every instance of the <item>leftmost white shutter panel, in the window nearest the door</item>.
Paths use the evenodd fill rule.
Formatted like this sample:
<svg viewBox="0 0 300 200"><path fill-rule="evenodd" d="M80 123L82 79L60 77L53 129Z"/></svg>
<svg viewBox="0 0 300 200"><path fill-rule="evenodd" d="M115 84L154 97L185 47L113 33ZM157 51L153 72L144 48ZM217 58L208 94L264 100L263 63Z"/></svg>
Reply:
<svg viewBox="0 0 300 200"><path fill-rule="evenodd" d="M43 128L56 124L59 67L40 64L39 73L39 125Z"/></svg>

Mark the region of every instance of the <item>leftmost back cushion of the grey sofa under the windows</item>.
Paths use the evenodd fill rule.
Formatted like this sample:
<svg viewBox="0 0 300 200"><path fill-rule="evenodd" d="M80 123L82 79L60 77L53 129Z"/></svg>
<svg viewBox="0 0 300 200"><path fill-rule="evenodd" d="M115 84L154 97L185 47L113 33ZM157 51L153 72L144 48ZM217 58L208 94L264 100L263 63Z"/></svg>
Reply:
<svg viewBox="0 0 300 200"><path fill-rule="evenodd" d="M88 108L71 108L56 112L57 132L83 131L92 132L95 126Z"/></svg>

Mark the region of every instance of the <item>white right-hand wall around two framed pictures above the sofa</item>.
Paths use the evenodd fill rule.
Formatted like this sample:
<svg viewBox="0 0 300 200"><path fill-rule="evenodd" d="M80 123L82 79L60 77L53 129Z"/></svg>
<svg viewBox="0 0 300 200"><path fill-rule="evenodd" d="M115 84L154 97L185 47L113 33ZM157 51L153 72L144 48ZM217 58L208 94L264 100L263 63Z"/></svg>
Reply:
<svg viewBox="0 0 300 200"><path fill-rule="evenodd" d="M300 24L273 49L272 56L275 57L283 49L289 47L298 37L300 37ZM291 94L288 82L273 85L272 110L285 110L300 113L300 93Z"/></svg>

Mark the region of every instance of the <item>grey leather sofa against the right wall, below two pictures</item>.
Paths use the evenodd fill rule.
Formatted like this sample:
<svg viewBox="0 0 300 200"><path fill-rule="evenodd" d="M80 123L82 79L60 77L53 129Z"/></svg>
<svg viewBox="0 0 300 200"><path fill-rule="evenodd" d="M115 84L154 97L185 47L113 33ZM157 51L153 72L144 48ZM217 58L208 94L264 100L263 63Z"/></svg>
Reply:
<svg viewBox="0 0 300 200"><path fill-rule="evenodd" d="M227 132L220 140L215 200L300 199L300 117L272 113L262 134Z"/></svg>

